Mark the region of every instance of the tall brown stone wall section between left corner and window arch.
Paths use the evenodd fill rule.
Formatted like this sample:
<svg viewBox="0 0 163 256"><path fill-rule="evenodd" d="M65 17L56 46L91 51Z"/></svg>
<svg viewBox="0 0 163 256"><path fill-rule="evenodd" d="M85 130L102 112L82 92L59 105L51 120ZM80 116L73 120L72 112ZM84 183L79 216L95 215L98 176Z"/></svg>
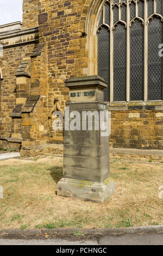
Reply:
<svg viewBox="0 0 163 256"><path fill-rule="evenodd" d="M80 21L85 1L41 1L39 9L39 37L47 45L48 67L48 114L54 108L54 100L64 111L69 100L65 80L73 76L84 76L88 52L86 38L82 36ZM83 19L82 19L83 21ZM84 23L83 23L84 24ZM62 141L63 133L52 129L49 121L49 141Z"/></svg>

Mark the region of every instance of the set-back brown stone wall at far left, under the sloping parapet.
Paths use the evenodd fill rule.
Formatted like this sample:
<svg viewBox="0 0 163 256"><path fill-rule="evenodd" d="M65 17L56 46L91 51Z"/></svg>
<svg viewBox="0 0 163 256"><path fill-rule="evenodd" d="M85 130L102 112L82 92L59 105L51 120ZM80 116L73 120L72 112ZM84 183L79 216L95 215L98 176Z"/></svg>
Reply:
<svg viewBox="0 0 163 256"><path fill-rule="evenodd" d="M0 135L9 137L12 132L12 122L10 113L16 106L16 72L21 60L29 57L34 50L34 44L4 48L1 58L4 65L2 81L2 100L0 117Z"/></svg>

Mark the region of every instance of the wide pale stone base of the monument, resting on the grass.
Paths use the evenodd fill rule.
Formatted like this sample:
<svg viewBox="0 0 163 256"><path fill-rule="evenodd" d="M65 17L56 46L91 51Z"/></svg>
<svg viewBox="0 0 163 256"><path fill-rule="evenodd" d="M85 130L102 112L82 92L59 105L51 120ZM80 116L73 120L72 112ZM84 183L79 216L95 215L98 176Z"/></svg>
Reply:
<svg viewBox="0 0 163 256"><path fill-rule="evenodd" d="M62 178L57 184L57 195L74 197L84 201L103 203L115 191L115 182L108 178L102 182L90 182Z"/></svg>

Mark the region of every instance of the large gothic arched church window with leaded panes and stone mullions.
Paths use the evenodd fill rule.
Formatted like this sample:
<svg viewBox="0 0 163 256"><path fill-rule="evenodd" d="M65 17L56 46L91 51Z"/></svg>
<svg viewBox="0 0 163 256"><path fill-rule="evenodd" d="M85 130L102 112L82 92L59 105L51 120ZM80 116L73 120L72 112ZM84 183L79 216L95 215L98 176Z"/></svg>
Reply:
<svg viewBox="0 0 163 256"><path fill-rule="evenodd" d="M162 99L162 0L106 0L98 23L105 101Z"/></svg>

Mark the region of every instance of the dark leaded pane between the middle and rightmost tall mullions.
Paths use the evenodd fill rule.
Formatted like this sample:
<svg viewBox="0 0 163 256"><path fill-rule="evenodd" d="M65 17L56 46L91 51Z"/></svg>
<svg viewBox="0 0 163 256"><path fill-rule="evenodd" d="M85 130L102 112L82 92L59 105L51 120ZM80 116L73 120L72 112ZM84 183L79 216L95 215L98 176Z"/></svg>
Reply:
<svg viewBox="0 0 163 256"><path fill-rule="evenodd" d="M130 29L130 100L143 100L143 26L138 20Z"/></svg>

